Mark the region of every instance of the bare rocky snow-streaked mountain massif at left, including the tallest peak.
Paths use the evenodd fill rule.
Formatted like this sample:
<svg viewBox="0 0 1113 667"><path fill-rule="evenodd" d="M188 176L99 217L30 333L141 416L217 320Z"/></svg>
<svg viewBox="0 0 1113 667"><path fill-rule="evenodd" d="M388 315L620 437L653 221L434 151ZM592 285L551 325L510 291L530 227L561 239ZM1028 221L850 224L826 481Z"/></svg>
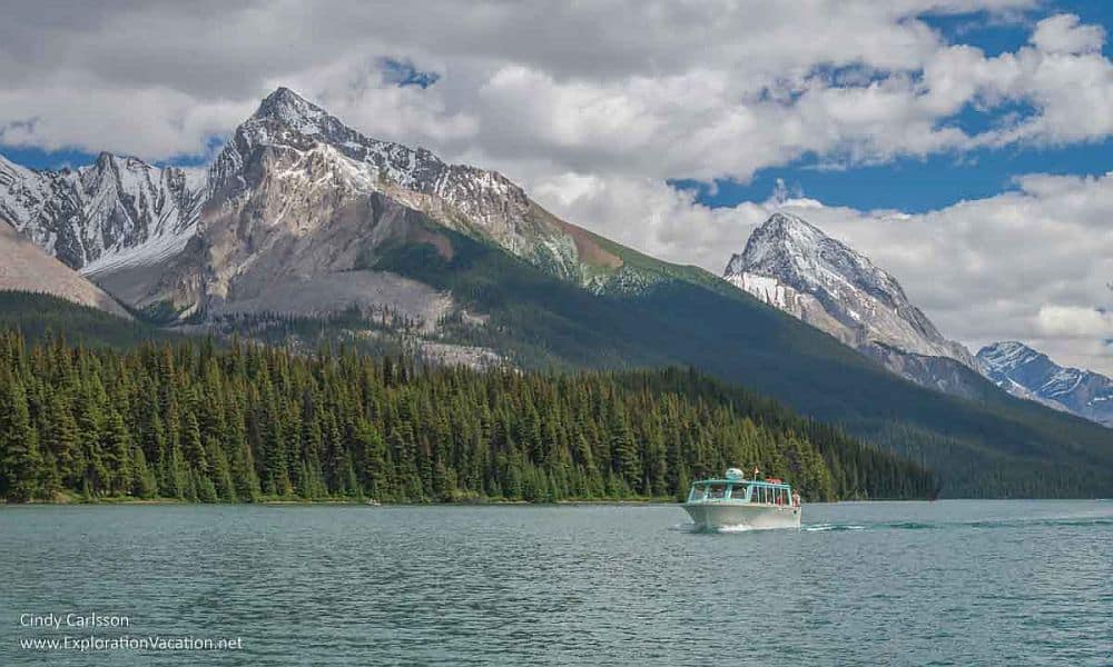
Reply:
<svg viewBox="0 0 1113 667"><path fill-rule="evenodd" d="M653 280L502 175L367 137L287 88L267 96L205 170L110 153L72 171L0 162L0 220L129 306L170 308L179 319L275 309L295 292L305 310L321 305L301 296L313 289L331 302L373 299L370 283L356 285L372 278L348 273L387 241L435 242L451 256L454 237L436 226L590 289Z"/></svg>

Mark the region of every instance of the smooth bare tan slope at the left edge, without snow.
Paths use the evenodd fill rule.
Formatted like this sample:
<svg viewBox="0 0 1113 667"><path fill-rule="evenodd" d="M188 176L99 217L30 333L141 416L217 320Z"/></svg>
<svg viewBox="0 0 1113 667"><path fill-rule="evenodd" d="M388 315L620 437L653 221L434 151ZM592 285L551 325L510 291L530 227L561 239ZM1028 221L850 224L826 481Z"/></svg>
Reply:
<svg viewBox="0 0 1113 667"><path fill-rule="evenodd" d="M0 221L0 258L3 258L0 260L0 292L53 295L118 317L131 317L99 287L43 252L3 221Z"/></svg>

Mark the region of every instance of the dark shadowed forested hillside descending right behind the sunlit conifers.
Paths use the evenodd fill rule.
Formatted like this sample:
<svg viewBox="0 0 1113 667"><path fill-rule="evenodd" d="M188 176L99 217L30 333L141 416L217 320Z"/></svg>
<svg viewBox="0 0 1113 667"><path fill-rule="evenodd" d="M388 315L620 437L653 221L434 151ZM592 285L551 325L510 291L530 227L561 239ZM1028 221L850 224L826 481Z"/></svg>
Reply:
<svg viewBox="0 0 1113 667"><path fill-rule="evenodd" d="M830 336L725 281L598 242L657 282L594 295L459 235L385 248L372 265L450 291L486 327L446 322L456 340L526 367L692 366L919 461L947 497L1106 497L1113 431L1016 399L978 379L964 400L896 377Z"/></svg>

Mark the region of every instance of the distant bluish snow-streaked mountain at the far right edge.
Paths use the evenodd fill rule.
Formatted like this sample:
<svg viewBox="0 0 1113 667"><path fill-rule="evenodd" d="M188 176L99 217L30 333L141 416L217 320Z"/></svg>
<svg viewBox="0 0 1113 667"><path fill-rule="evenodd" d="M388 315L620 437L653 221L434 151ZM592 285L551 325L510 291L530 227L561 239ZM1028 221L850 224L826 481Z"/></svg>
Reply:
<svg viewBox="0 0 1113 667"><path fill-rule="evenodd" d="M986 377L1011 394L1113 427L1113 380L1103 375L1064 368L1016 341L987 345L977 361Z"/></svg>

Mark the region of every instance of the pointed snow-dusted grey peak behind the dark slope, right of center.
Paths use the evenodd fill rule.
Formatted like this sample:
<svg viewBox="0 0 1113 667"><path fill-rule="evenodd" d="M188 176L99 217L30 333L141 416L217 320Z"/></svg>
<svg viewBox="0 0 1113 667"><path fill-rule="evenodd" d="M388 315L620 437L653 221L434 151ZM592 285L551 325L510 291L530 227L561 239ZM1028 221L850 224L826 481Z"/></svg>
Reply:
<svg viewBox="0 0 1113 667"><path fill-rule="evenodd" d="M774 213L723 278L919 385L974 397L974 357L947 340L904 289L864 255L807 221Z"/></svg>

